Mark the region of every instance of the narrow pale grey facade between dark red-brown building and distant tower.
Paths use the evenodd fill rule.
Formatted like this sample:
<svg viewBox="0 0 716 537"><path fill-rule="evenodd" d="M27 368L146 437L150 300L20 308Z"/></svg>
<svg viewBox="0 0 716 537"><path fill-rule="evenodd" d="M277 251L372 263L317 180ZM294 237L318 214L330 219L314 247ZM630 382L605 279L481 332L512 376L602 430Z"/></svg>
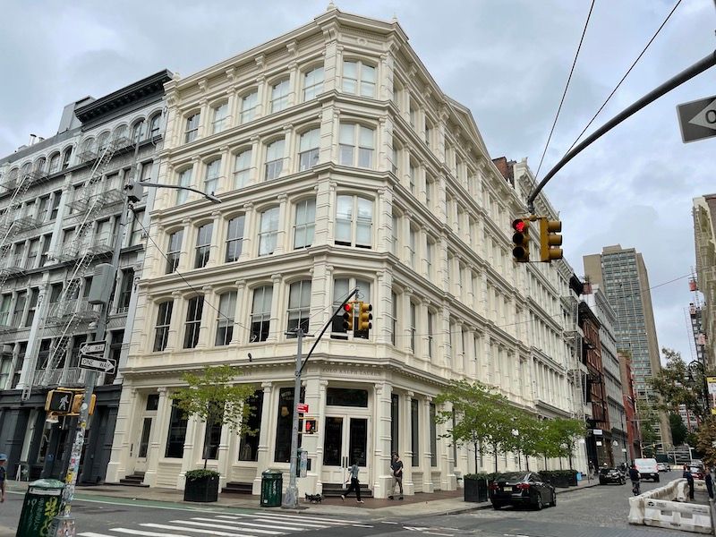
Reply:
<svg viewBox="0 0 716 537"><path fill-rule="evenodd" d="M604 442L610 447L610 463L620 465L626 463L627 438L622 397L617 340L615 328L617 316L609 306L609 301L598 285L587 286L589 293L584 294L584 301L600 321L599 337L601 341L601 380L607 396L607 413L609 415L608 433L605 431Z"/></svg>

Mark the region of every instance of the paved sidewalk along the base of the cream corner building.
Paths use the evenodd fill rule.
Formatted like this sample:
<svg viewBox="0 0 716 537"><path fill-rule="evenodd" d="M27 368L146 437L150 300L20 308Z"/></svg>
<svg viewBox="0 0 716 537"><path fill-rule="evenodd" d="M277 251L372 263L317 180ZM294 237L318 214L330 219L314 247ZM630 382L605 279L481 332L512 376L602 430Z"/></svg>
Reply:
<svg viewBox="0 0 716 537"><path fill-rule="evenodd" d="M576 487L557 489L557 494L567 494L575 490L588 489L598 486L599 482L579 482ZM27 490L27 482L7 481L6 487L9 492L24 492ZM97 485L78 486L75 490L75 499L124 499L122 503L141 501L144 505L155 504L164 507L175 506L196 509L217 509L217 508L260 508L259 496L244 494L219 494L218 501L210 503L195 503L183 501L183 490L143 488L127 485ZM314 515L370 515L370 516L426 516L426 515L450 515L473 511L475 509L486 509L491 507L490 502L465 502L463 489L438 490L431 494L419 492L413 496L405 496L405 499L375 499L366 498L365 503L359 504L352 496L345 501L340 498L324 499L320 504L309 504L303 498L300 500L298 510L310 510ZM118 502L119 503L119 502ZM275 507L276 508L276 507ZM2 534L2 533L0 533Z"/></svg>

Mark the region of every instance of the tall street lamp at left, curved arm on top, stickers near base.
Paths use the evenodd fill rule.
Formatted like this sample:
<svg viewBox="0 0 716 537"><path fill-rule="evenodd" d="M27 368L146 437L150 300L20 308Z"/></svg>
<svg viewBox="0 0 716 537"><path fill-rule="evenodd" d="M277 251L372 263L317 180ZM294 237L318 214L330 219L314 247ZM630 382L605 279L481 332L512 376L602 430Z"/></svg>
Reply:
<svg viewBox="0 0 716 537"><path fill-rule="evenodd" d="M134 149L134 165L132 166L132 172L136 171L137 153L139 151L139 144ZM115 236L114 250L112 251L112 263L106 274L107 281L112 282L114 287L117 270L119 269L119 256L122 251L122 233L121 231L126 228L127 224L127 210L129 209L130 201L136 202L141 200L142 190L144 186L152 186L155 188L174 188L177 190L186 190L190 192L197 192L204 196L207 200L213 203L221 203L216 196L201 192L189 186L178 186L175 184L160 184L160 183L142 183L136 182L132 178L128 179L124 184L124 195L122 203L122 213L119 216L119 227ZM98 279L98 278L95 278ZM93 294L93 289L90 287L90 295ZM94 341L104 342L107 336L107 316L109 314L109 298L112 289L110 288L106 293L99 293L101 296L98 299L98 303L101 304L101 310L99 312L99 318L97 321L97 327L95 329ZM82 446L84 445L85 430L87 429L87 419L90 415L90 401L92 399L92 392L95 389L95 382L97 380L97 373L95 371L87 371L85 376L85 391L84 399L80 406L80 413L77 417L77 429L75 430L74 440L72 441L72 451L70 454L70 465L67 468L65 477L65 487L63 490L62 500L60 503L60 509L57 516L53 519L53 525L50 528L47 535L64 537L65 535L74 535L74 518L71 516L72 512L72 499L74 499L74 487L77 483L77 474L80 471L80 462L82 456ZM295 407L294 407L295 410Z"/></svg>

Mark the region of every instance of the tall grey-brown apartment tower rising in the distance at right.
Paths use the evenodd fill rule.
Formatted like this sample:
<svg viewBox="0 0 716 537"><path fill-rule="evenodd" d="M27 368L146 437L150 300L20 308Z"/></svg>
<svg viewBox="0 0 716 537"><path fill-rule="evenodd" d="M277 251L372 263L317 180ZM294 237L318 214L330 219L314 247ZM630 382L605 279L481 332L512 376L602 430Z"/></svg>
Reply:
<svg viewBox="0 0 716 537"><path fill-rule="evenodd" d="M654 394L646 381L661 370L659 342L649 291L649 276L642 254L620 244L605 246L601 254L584 256L584 274L600 286L617 313L618 350L631 355L635 392L638 400ZM666 413L659 414L657 433L660 450L671 445Z"/></svg>

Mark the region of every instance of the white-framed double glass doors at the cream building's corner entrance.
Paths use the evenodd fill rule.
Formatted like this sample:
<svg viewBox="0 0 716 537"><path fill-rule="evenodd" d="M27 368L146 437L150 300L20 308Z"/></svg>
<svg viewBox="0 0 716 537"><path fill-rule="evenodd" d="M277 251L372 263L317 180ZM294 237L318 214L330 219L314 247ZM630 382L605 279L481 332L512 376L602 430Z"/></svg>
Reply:
<svg viewBox="0 0 716 537"><path fill-rule="evenodd" d="M326 416L323 436L322 481L349 482L347 469L354 463L361 467L358 479L369 482L368 418Z"/></svg>

